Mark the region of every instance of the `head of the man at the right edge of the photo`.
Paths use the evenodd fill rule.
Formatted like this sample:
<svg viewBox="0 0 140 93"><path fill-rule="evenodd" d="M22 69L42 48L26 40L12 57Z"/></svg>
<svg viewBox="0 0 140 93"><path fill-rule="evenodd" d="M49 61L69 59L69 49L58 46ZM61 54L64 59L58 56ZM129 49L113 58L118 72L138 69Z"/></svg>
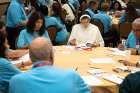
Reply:
<svg viewBox="0 0 140 93"><path fill-rule="evenodd" d="M140 38L140 18L133 21L132 29L137 38Z"/></svg>

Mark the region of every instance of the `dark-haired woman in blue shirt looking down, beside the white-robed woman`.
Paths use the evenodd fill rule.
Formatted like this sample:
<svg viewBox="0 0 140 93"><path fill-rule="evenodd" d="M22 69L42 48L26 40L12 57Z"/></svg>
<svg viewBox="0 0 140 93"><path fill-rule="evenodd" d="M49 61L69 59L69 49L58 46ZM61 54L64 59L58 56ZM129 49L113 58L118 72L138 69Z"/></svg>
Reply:
<svg viewBox="0 0 140 93"><path fill-rule="evenodd" d="M20 32L17 47L26 49L32 40L37 37L46 37L49 39L48 32L45 30L45 19L40 12L34 12L29 18L27 28Z"/></svg>

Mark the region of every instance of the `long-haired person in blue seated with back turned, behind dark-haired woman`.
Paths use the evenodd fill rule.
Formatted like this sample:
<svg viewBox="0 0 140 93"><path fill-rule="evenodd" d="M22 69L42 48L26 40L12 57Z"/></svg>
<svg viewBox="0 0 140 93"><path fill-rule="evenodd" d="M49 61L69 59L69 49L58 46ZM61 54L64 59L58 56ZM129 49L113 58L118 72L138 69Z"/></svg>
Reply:
<svg viewBox="0 0 140 93"><path fill-rule="evenodd" d="M54 2L52 5L52 17L45 18L46 20L46 28L51 25L56 26L58 32L56 34L55 42L58 45L66 44L68 40L69 33L66 29L65 25L65 16L63 15L64 12L62 10L61 5L58 2Z"/></svg>

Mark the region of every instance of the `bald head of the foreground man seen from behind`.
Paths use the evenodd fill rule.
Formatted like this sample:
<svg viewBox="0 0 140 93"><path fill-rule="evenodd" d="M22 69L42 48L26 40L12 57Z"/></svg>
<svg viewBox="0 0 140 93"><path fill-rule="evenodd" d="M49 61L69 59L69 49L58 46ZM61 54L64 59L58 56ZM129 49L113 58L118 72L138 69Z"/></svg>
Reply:
<svg viewBox="0 0 140 93"><path fill-rule="evenodd" d="M48 39L39 37L32 41L29 47L32 62L49 61L53 64L53 48Z"/></svg>

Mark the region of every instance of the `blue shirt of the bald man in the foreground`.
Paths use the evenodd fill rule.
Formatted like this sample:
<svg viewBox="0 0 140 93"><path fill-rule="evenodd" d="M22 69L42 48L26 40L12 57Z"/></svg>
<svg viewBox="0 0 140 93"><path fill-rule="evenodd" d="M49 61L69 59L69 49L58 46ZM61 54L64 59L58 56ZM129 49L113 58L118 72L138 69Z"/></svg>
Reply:
<svg viewBox="0 0 140 93"><path fill-rule="evenodd" d="M9 93L91 92L75 71L64 71L53 66L41 66L13 77L10 81Z"/></svg>

